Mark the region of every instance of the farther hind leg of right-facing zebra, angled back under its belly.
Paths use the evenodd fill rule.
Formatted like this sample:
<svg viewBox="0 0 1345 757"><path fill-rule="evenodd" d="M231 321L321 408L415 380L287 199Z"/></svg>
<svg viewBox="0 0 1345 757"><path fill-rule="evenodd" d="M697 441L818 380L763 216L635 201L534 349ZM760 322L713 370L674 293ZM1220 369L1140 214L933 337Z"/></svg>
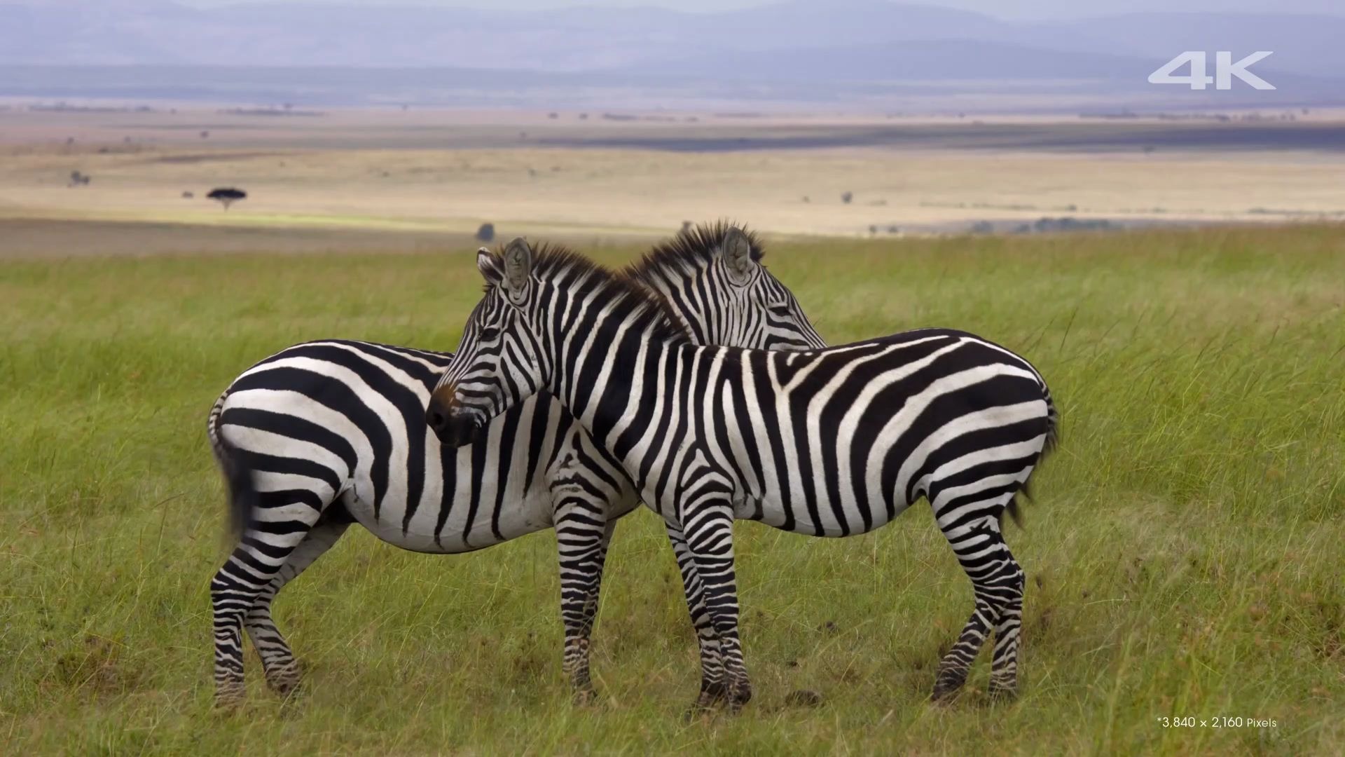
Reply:
<svg viewBox="0 0 1345 757"><path fill-rule="evenodd" d="M270 617L270 605L286 583L304 572L327 550L331 550L350 528L344 509L339 505L336 509L339 512L328 509L323 513L317 525L309 529L299 547L289 554L289 559L281 566L276 578L270 579L266 590L257 597L243 618L243 626L247 629L247 636L252 637L253 648L261 656L262 669L266 672L266 686L280 695L288 695L299 686L299 664L295 661L295 653L284 634L280 633Z"/></svg>

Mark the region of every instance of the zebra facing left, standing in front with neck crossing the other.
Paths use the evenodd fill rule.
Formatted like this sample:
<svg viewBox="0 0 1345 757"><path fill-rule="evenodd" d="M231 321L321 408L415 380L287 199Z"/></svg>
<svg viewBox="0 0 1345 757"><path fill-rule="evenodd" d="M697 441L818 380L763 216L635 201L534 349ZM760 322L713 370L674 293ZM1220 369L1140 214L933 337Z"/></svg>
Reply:
<svg viewBox="0 0 1345 757"><path fill-rule="evenodd" d="M486 296L428 405L447 445L545 391L685 536L709 609L695 707L751 699L738 641L733 520L812 536L886 524L925 497L971 579L975 609L933 698L955 692L994 630L991 691L1017 690L1024 572L1001 535L1059 416L1028 361L924 329L811 352L701 346L627 277L514 240L479 259ZM679 554L679 562L683 555ZM689 567L683 563L683 568Z"/></svg>

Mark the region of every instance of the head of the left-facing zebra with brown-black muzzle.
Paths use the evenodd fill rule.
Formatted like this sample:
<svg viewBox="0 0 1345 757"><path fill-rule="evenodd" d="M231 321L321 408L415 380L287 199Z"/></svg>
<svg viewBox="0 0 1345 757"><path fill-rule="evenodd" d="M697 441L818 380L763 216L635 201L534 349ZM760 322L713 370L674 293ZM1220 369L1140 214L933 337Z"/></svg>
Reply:
<svg viewBox="0 0 1345 757"><path fill-rule="evenodd" d="M515 238L503 260L482 248L476 267L486 277L486 296L472 310L425 412L440 440L455 447L469 445L492 418L542 388L539 345L522 323L535 286L531 248Z"/></svg>

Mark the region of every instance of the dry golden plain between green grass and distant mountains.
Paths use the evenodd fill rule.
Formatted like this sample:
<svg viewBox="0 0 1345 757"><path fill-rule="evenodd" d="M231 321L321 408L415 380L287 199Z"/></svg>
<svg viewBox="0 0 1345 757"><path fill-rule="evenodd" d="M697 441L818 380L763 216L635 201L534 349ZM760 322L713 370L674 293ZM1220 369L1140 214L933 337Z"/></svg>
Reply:
<svg viewBox="0 0 1345 757"><path fill-rule="evenodd" d="M1165 124L913 124L896 127L905 136L893 144L874 136L892 128L710 116L627 124L596 114L553 123L526 113L0 112L0 218L434 233L472 233L491 221L502 233L592 238L656 236L717 217L779 234L841 236L1044 216L1345 217L1338 151L1213 150L1181 136L1194 125ZM1014 131L1022 128L1036 131ZM1126 128L1153 132L1145 139L1155 150L1107 147ZM1330 125L1275 127L1290 136L1295 128ZM740 140L761 144L734 150ZM791 140L829 147L772 147ZM695 151L706 144L714 151ZM71 171L91 183L69 187ZM217 186L250 197L225 213L204 199Z"/></svg>

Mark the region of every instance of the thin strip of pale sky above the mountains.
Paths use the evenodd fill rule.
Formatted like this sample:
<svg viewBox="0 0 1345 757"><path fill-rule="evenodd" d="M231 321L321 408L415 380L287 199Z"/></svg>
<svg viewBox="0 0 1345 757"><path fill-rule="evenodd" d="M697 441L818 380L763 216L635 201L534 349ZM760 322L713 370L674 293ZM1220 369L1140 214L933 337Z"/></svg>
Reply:
<svg viewBox="0 0 1345 757"><path fill-rule="evenodd" d="M335 3L342 5L459 5L473 8L566 8L574 5L678 8L714 11L768 5L772 0L179 0L187 5L227 5L247 3ZM830 4L830 0L814 0ZM1132 11L1208 11L1208 12L1301 12L1341 15L1341 0L924 0L923 5L942 5L981 11L1003 19L1049 19L1060 16L1099 16Z"/></svg>

